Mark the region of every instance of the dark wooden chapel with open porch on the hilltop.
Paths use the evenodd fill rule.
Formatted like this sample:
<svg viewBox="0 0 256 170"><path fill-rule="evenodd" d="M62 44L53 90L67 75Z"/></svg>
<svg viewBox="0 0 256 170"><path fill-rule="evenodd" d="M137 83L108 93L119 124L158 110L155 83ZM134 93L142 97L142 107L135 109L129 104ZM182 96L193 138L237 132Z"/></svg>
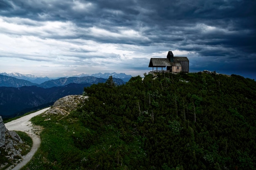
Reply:
<svg viewBox="0 0 256 170"><path fill-rule="evenodd" d="M166 72L171 73L188 73L189 72L189 59L187 57L174 57L172 51L168 51L166 58L151 58L148 67L153 68L153 72ZM156 71L154 71L154 67ZM162 68L158 71L157 68Z"/></svg>

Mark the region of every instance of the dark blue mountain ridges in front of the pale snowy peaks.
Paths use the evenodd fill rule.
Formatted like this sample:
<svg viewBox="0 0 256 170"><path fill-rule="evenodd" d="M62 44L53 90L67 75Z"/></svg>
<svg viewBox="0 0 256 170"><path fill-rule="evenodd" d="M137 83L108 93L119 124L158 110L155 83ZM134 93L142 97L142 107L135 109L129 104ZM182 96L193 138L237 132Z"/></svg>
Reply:
<svg viewBox="0 0 256 170"><path fill-rule="evenodd" d="M22 78L22 75L16 74L16 76ZM93 76L63 77L36 84L25 79L0 75L0 116L23 115L30 110L49 106L66 95L82 94L84 87L105 83L107 80ZM119 78L113 77L113 81L117 85L125 84Z"/></svg>

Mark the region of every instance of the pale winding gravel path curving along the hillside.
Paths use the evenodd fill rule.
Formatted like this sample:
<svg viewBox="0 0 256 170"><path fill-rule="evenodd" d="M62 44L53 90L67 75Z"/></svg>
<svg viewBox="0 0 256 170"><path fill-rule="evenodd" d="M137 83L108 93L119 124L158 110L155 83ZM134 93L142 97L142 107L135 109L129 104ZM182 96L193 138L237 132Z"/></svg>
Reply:
<svg viewBox="0 0 256 170"><path fill-rule="evenodd" d="M19 119L16 119L16 120L13 120L13 121L10 121L10 122L4 124L8 130L16 130L16 131L26 132L33 140L33 146L31 148L30 152L27 155L25 155L25 157L23 157L23 160L20 163L18 163L17 166L15 166L14 168L10 167L7 170L10 170L10 169L11 170L19 170L20 168L25 166L30 161L30 159L33 157L33 155L36 153L38 147L40 146L41 140L40 140L40 137L34 133L33 126L31 124L30 119L36 115L40 115L41 113L45 112L48 109L49 108L44 108L35 113L31 113L29 115L20 117Z"/></svg>

